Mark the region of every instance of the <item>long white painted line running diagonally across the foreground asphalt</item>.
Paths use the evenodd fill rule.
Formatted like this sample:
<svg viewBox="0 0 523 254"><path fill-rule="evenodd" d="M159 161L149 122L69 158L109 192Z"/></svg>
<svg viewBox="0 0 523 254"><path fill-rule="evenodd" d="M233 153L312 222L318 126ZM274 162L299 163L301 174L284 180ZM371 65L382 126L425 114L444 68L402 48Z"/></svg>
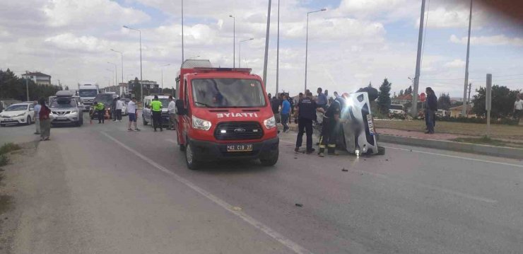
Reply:
<svg viewBox="0 0 523 254"><path fill-rule="evenodd" d="M262 232L266 233L271 238L274 238L274 240L278 241L279 243L283 244L284 246L287 246L287 248L290 248L290 250L293 250L295 253L298 254L312 254L310 250L307 250L306 248L303 248L298 243L293 242L292 240L286 238L281 233L278 233L277 231L274 231L273 229L269 228L269 226L266 226L265 224L262 224L262 222L257 221L256 219L250 217L249 215L245 214L245 212L242 212L242 210L235 210L233 205L228 204L224 200L221 200L219 197L216 197L215 195L212 195L210 192L202 189L201 187L198 187L194 185L194 183L190 182L189 180L182 178L180 175L177 175L176 173L169 171L167 168L161 166L158 163L155 163L150 158L143 156L143 154L140 154L138 151L131 149L129 146L123 144L122 142L119 142L114 137L111 137L107 132L102 132L102 134L105 135L105 137L111 139L114 143L119 144L124 149L127 149L134 155L141 158L143 161L146 161L147 163L151 164L151 166L157 168L159 171L162 171L163 173L166 173L168 175L171 175L175 180L179 181L180 183L183 183L184 185L187 185L187 187L190 187L192 190L200 193L204 197L207 197L209 200L214 202L215 204L218 204L219 206L223 207L228 212L235 214L237 217L240 217L244 221L246 221L248 224L251 224L255 228L261 230Z"/></svg>

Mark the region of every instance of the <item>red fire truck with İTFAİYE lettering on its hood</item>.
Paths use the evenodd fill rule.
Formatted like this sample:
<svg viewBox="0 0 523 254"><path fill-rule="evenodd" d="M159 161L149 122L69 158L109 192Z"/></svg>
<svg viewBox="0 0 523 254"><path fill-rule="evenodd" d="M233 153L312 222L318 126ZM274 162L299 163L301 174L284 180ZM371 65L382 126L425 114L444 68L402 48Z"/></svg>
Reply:
<svg viewBox="0 0 523 254"><path fill-rule="evenodd" d="M264 83L251 69L186 60L177 77L177 142L189 169L201 162L278 161L278 134Z"/></svg>

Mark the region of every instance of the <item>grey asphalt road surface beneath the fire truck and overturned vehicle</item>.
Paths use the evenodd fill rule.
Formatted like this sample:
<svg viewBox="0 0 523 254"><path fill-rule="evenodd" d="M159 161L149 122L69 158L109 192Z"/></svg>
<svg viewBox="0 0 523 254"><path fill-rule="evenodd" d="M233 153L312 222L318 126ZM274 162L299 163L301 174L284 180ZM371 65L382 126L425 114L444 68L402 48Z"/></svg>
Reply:
<svg viewBox="0 0 523 254"><path fill-rule="evenodd" d="M290 133L274 167L189 171L175 132L86 123L53 128L21 165L13 253L523 250L522 161L395 144L319 158L295 154Z"/></svg>

